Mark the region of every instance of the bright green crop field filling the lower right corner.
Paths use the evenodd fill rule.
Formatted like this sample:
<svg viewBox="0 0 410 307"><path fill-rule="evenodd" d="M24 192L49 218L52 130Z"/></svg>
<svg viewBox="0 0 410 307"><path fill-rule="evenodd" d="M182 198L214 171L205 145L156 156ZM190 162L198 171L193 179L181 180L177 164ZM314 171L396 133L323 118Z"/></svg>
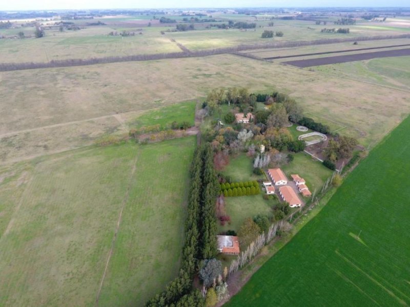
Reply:
<svg viewBox="0 0 410 307"><path fill-rule="evenodd" d="M410 304L410 118L227 306Z"/></svg>

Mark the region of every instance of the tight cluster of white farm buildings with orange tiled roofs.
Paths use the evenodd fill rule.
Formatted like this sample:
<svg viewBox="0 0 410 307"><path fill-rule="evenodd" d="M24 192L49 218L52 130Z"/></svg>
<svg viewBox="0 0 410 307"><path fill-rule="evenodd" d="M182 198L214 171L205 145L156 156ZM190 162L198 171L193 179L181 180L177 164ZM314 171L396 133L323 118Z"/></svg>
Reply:
<svg viewBox="0 0 410 307"><path fill-rule="evenodd" d="M270 168L268 169L268 174L272 181L263 182L267 194L275 194L275 187L277 187L279 195L283 201L289 203L291 208L302 206L302 201L295 189L291 185L288 185L288 178L280 168ZM310 197L312 195L303 178L298 174L292 174L291 177L295 183L295 187L303 196Z"/></svg>

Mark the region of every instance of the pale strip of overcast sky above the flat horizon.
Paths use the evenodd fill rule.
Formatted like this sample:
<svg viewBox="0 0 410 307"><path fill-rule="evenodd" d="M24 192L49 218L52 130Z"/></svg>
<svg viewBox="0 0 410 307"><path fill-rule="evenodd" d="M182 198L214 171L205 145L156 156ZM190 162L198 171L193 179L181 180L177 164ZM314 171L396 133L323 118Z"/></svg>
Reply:
<svg viewBox="0 0 410 307"><path fill-rule="evenodd" d="M184 8L184 7L394 7L409 0L0 0L0 10Z"/></svg>

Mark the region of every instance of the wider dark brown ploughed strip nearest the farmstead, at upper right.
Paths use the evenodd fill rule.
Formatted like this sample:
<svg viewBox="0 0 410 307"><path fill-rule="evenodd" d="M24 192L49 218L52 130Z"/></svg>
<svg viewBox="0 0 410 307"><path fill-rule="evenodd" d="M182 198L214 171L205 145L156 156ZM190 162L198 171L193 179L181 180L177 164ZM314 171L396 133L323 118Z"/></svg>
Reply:
<svg viewBox="0 0 410 307"><path fill-rule="evenodd" d="M329 57L316 58L316 59L287 61L287 62L283 62L282 64L288 64L288 65L296 66L299 68L305 68L305 67L336 64L336 63L370 60L374 58L409 56L409 55L410 55L410 48L407 48L407 49L398 49L398 50L358 53L358 54L350 54L350 55L329 56Z"/></svg>

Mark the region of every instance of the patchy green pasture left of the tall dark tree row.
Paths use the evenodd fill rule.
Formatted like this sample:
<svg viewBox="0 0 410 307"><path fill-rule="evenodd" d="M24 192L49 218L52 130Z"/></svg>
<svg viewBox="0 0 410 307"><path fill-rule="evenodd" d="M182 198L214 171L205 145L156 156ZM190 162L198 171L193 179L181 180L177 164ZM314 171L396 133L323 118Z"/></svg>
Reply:
<svg viewBox="0 0 410 307"><path fill-rule="evenodd" d="M2 304L94 305L101 283L99 305L139 306L162 290L179 269L195 144L86 147L1 168Z"/></svg>

